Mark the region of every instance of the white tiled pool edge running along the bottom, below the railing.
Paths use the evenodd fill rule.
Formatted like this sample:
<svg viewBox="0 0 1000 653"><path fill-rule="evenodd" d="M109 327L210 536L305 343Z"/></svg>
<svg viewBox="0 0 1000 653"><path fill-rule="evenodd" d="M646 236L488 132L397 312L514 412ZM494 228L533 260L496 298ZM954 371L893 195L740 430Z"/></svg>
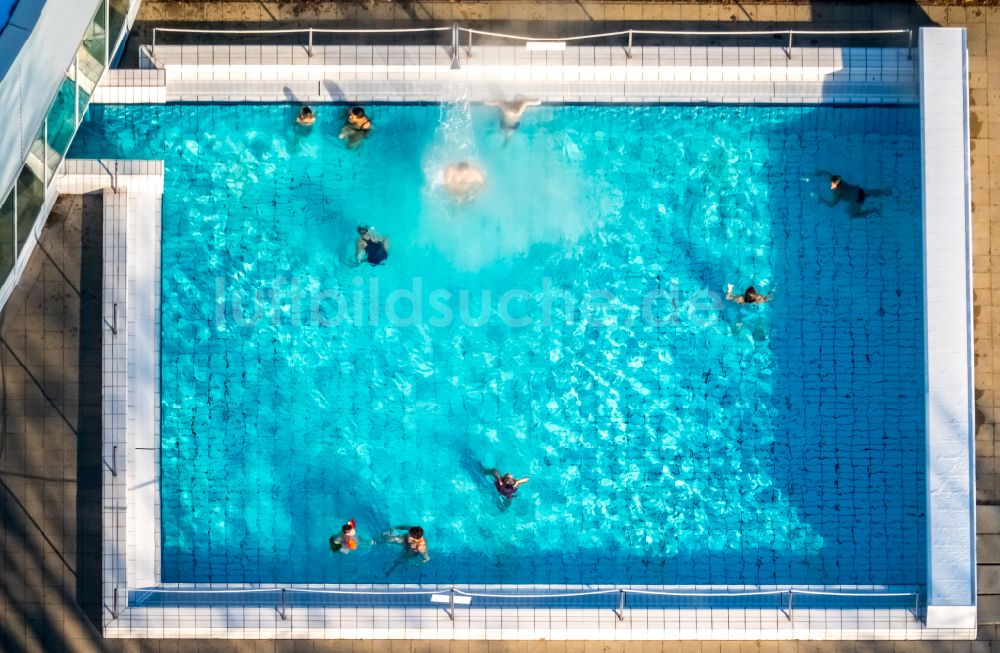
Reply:
<svg viewBox="0 0 1000 653"><path fill-rule="evenodd" d="M849 613L849 614L845 614ZM134 608L105 628L107 637L216 639L445 640L918 640L975 639L975 630L920 627L905 610L777 611L295 608ZM914 624L908 627L908 623Z"/></svg>

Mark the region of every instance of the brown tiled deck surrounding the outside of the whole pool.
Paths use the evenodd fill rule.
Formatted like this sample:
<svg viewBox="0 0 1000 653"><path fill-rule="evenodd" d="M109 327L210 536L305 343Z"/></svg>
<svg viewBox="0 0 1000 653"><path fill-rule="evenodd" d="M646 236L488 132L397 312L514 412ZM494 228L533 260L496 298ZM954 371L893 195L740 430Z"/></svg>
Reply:
<svg viewBox="0 0 1000 653"><path fill-rule="evenodd" d="M150 2L140 20L241 23L260 27L296 20L292 5ZM1000 7L870 5L670 5L657 2L317 3L319 19L384 26L456 18L547 20L574 29L587 22L676 21L709 29L719 21L756 20L814 29L909 27L937 23L968 28L973 171L976 344L976 454L980 627L978 642L475 642L101 640L100 619L100 195L60 199L40 246L0 321L5 421L0 430L0 651L922 651L991 650L1000 640ZM173 13L168 14L171 11ZM313 9L309 9L313 11ZM288 14L288 15L286 15ZM303 15L302 24L317 17ZM245 25L246 22L254 23ZM141 29L141 26L140 26ZM544 31L540 28L540 31ZM95 259L95 257L97 257ZM95 263L96 261L96 263ZM996 268L995 270L993 268ZM96 275L96 276L95 276ZM95 313L96 311L96 313ZM96 317L96 319L94 319ZM95 344L96 343L96 344ZM97 370L95 372L95 370ZM95 416L97 424L95 425ZM95 428L96 426L96 428ZM96 440L95 440L96 434ZM922 546L923 543L917 544Z"/></svg>

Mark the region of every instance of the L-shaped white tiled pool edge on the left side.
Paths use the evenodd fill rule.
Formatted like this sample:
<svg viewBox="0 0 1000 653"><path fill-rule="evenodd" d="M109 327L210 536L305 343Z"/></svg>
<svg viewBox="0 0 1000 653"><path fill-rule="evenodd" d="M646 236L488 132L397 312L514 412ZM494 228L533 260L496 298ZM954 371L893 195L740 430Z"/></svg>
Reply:
<svg viewBox="0 0 1000 653"><path fill-rule="evenodd" d="M103 191L102 622L159 577L159 233L163 163L66 160L59 193Z"/></svg>

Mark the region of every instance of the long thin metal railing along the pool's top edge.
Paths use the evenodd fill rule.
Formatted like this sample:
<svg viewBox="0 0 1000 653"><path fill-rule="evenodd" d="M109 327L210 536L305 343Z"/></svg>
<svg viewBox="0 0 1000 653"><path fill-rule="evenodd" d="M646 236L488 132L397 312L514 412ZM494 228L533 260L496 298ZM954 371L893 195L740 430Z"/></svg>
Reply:
<svg viewBox="0 0 1000 653"><path fill-rule="evenodd" d="M453 23L449 27L412 27L412 28L387 28L387 29L323 29L323 28L300 28L300 29L259 29L259 30L226 30L226 29L186 29L186 28L176 28L176 27L154 27L153 28L153 43L150 46L150 56L156 56L156 42L157 34L160 32L164 33L178 33L178 34L217 34L225 36L246 36L246 35L259 35L259 34L269 34L269 35L286 35L286 34L305 34L308 37L308 42L305 45L306 53L312 57L313 55L313 42L316 34L405 34L405 33L418 33L418 32L451 32L451 57L452 57L452 67L459 67L458 53L459 48L463 45L460 43L461 34L464 32L468 35L468 41L465 45L467 48L467 56L472 56L472 36L478 35L482 37L503 39L508 41L518 41L525 45L529 43L552 43L552 44L566 44L578 41L588 41L594 39L619 39L624 37L626 39L622 47L625 48L625 56L632 58L632 45L634 43L635 37L645 37L645 36L669 36L669 37L681 37L681 38L702 38L702 37L762 37L762 36L774 36L774 37L787 37L787 45L782 47L785 56L791 59L792 48L795 44L796 36L891 36L891 35L903 35L907 37L906 49L907 58L913 58L913 45L914 45L914 32L912 29L868 29L868 30L800 30L800 29L775 29L775 30L714 30L714 31L691 31L691 30L651 30L651 29L626 29L618 30L614 32L598 32L594 34L578 34L575 36L560 36L560 37L539 37L539 36L525 36L521 34L506 34L503 32L491 32L487 30L473 29L471 27L463 27L458 23Z"/></svg>

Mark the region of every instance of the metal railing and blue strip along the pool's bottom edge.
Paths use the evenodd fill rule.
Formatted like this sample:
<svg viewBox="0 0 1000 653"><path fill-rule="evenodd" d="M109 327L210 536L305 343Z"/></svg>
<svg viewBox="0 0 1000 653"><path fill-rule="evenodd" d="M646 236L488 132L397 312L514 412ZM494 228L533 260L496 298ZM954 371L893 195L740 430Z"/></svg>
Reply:
<svg viewBox="0 0 1000 653"><path fill-rule="evenodd" d="M117 588L116 588L117 592ZM274 587L248 589L143 588L128 591L133 607L274 606L282 620L295 607L441 608L454 621L460 608L595 609L612 610L619 621L627 611L671 609L764 609L782 612L789 621L796 608L906 609L921 621L920 592L871 590L658 590L628 587L574 591L475 591L459 587L426 590L363 590Z"/></svg>

